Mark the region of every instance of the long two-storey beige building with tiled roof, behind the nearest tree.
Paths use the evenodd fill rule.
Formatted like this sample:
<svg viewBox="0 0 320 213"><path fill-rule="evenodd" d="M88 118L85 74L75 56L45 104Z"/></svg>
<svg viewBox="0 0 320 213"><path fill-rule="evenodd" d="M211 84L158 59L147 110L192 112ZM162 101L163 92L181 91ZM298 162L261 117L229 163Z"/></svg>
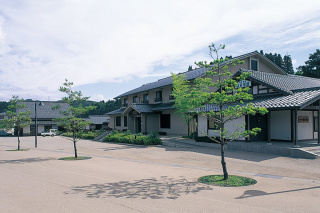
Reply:
<svg viewBox="0 0 320 213"><path fill-rule="evenodd" d="M285 75L286 73L259 52L249 52L237 57L244 64L230 66L231 73L239 68ZM199 77L206 77L206 68L196 68L179 74L185 74L191 83ZM182 117L172 108L174 97L172 92L172 76L146 83L137 88L117 95L121 99L121 108L108 112L109 127L118 130L129 129L135 132L165 131L172 134L186 135L189 128ZM192 127L193 128L193 127Z"/></svg>

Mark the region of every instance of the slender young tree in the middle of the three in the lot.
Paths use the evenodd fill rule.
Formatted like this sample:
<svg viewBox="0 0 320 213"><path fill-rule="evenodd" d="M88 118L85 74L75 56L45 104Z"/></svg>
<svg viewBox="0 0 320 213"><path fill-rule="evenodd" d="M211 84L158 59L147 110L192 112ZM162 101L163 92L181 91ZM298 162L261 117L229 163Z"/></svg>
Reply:
<svg viewBox="0 0 320 213"><path fill-rule="evenodd" d="M70 107L66 111L59 110L61 108L60 105L56 105L52 107L52 110L59 110L59 113L63 114L63 117L60 118L54 118L53 121L58 121L58 125L62 126L64 129L66 129L69 132L72 132L72 140L73 141L73 147L74 147L74 157L78 157L76 152L76 141L79 139L77 138L75 132L82 129L83 127L89 125L90 121L83 121L79 116L82 114L87 113L90 110L93 110L96 108L96 106L85 106L82 107L82 105L75 106L74 104L81 103L86 101L89 97L82 97L81 91L73 91L71 86L73 85L73 82L69 82L67 79L65 79L65 82L63 83L63 86L60 86L59 91L64 92L67 94L66 97L63 97L62 100L70 105ZM69 139L69 138L67 138Z"/></svg>

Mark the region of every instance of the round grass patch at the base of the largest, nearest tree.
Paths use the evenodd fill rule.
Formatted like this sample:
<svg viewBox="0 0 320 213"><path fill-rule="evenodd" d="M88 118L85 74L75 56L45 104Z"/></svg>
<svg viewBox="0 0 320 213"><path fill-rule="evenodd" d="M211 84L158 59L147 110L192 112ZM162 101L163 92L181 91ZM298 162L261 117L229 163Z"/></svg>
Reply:
<svg viewBox="0 0 320 213"><path fill-rule="evenodd" d="M246 186L253 185L256 180L236 175L228 175L226 180L223 180L223 175L207 175L198 178L199 182L216 185L216 186Z"/></svg>

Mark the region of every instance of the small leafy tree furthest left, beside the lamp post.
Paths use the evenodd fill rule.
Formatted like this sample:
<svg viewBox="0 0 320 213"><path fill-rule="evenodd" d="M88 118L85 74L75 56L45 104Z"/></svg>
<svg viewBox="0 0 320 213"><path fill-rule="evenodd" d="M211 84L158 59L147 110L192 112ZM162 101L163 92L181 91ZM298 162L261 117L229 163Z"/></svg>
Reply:
<svg viewBox="0 0 320 213"><path fill-rule="evenodd" d="M20 149L20 132L23 130L24 126L30 125L30 115L31 111L26 109L26 105L23 104L23 99L19 99L19 96L12 95L10 99L10 105L8 105L8 110L6 111L8 116L11 116L9 119L2 120L1 123L4 128L9 129L13 128L14 132L17 133L18 138L18 150Z"/></svg>

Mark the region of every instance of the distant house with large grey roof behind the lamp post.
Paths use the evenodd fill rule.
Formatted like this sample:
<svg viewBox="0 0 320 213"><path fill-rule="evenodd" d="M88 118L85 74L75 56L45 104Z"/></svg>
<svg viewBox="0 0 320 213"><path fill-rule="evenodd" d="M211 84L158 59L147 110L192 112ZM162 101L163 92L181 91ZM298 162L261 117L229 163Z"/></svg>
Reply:
<svg viewBox="0 0 320 213"><path fill-rule="evenodd" d="M22 104L26 105L26 108L22 110L30 110L32 113L30 115L32 121L29 126L23 128L22 135L34 135L35 134L35 118L37 125L37 135L44 130L55 128L62 130L56 121L52 121L53 118L59 118L64 115L59 113L57 110L52 110L51 107L55 105L60 105L59 111L66 111L70 107L66 102L56 102L56 101L23 101ZM36 110L36 116L35 116Z"/></svg>

